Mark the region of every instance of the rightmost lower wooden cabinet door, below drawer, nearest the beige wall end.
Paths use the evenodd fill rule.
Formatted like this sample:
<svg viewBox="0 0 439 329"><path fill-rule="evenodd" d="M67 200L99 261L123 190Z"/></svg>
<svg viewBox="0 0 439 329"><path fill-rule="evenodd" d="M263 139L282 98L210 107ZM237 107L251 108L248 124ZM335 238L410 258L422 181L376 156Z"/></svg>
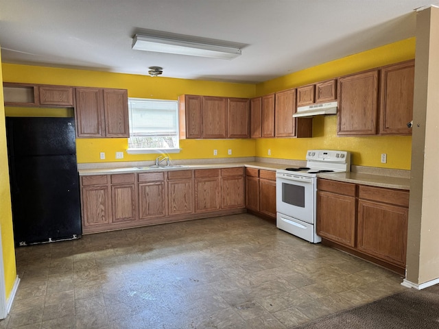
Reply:
<svg viewBox="0 0 439 329"><path fill-rule="evenodd" d="M359 199L358 249L405 266L408 208Z"/></svg>

